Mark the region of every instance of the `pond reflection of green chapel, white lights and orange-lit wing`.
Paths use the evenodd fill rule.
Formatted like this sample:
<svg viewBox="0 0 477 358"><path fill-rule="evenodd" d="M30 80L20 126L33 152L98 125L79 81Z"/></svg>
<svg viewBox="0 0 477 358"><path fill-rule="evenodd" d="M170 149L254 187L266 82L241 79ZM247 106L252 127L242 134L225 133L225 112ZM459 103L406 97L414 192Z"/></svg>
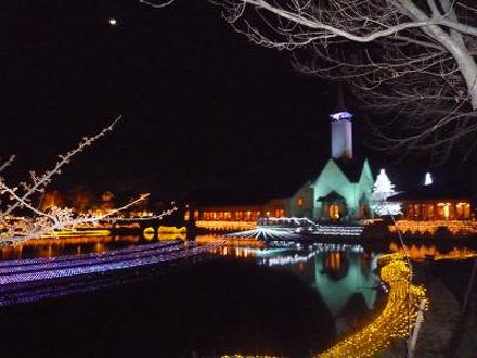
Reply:
<svg viewBox="0 0 477 358"><path fill-rule="evenodd" d="M212 239L208 238L208 242ZM378 253L361 245L314 243L311 245L250 247L236 239L215 253L253 258L260 265L291 270L315 289L335 317L338 333L362 321L374 308L379 279L374 274Z"/></svg>

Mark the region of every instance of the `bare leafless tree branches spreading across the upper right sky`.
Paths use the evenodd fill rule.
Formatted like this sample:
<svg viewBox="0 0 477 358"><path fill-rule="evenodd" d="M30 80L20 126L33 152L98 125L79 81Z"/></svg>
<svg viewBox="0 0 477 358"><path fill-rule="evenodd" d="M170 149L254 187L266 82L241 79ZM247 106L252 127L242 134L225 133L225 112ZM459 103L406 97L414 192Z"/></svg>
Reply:
<svg viewBox="0 0 477 358"><path fill-rule="evenodd" d="M388 127L373 123L381 148L400 143L449 153L477 130L477 16L470 0L212 3L253 42L294 51L298 71L349 84L362 107L389 117Z"/></svg>

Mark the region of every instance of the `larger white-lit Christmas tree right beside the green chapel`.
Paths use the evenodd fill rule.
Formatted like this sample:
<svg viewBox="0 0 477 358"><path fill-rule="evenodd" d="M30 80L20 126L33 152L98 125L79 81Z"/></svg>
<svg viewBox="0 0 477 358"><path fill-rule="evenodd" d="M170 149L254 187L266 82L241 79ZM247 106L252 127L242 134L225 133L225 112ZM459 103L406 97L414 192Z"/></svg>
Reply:
<svg viewBox="0 0 477 358"><path fill-rule="evenodd" d="M389 203L387 199L396 195L395 184L384 169L381 169L371 194L371 208L376 215L398 215L401 214L401 204Z"/></svg>

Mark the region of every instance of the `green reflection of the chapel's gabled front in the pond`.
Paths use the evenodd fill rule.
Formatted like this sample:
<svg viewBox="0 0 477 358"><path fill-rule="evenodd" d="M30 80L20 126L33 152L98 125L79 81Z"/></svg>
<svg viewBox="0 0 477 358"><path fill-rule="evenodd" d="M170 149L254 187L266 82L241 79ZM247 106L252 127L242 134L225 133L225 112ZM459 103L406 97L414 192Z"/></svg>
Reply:
<svg viewBox="0 0 477 358"><path fill-rule="evenodd" d="M373 308L376 301L376 290L373 289L378 281L377 277L372 273L372 270L376 267L376 258L374 257L369 260L370 270L369 273L364 273L361 268L361 255L358 253L347 254L346 273L339 279L328 274L330 271L326 269L327 260L323 257L324 255L319 255L314 259L314 286L334 316L338 316L349 299L356 294L362 295L369 309ZM336 256L333 263L337 263Z"/></svg>

